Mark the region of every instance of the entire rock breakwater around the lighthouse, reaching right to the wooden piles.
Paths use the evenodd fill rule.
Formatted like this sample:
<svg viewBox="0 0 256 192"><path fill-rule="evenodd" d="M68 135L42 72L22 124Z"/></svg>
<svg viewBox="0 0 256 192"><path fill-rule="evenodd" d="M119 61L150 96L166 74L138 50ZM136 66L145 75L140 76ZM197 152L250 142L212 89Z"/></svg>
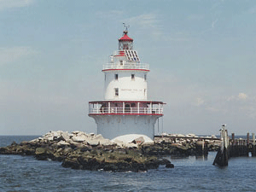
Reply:
<svg viewBox="0 0 256 192"><path fill-rule="evenodd" d="M82 131L49 131L32 141L0 148L0 154L33 155L37 160L57 160L73 169L144 172L160 165L172 168L169 160L162 159L164 155L206 155L218 146L216 137L203 139L193 134L156 137L154 142L143 142L138 137L125 143Z"/></svg>

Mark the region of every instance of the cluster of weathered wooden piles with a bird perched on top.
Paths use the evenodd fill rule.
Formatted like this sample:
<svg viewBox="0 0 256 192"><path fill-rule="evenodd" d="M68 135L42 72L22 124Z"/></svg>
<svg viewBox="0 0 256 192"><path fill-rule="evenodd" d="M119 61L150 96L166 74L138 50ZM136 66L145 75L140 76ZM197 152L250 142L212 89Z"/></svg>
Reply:
<svg viewBox="0 0 256 192"><path fill-rule="evenodd" d="M222 125L220 131L220 139L221 139L221 146L216 154L215 160L213 161L213 165L218 166L228 166L229 156L228 156L228 149L229 149L229 137L228 131L225 127L226 125Z"/></svg>

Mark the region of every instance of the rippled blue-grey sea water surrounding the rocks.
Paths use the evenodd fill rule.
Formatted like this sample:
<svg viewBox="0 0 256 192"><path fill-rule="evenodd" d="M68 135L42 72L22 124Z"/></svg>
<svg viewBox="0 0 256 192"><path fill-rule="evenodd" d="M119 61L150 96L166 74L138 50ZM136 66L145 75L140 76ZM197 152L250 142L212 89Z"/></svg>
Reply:
<svg viewBox="0 0 256 192"><path fill-rule="evenodd" d="M0 136L0 147L37 136ZM256 157L230 159L229 166L212 166L207 158L166 158L173 169L148 172L102 172L63 168L60 162L32 156L0 154L0 191L256 191Z"/></svg>

